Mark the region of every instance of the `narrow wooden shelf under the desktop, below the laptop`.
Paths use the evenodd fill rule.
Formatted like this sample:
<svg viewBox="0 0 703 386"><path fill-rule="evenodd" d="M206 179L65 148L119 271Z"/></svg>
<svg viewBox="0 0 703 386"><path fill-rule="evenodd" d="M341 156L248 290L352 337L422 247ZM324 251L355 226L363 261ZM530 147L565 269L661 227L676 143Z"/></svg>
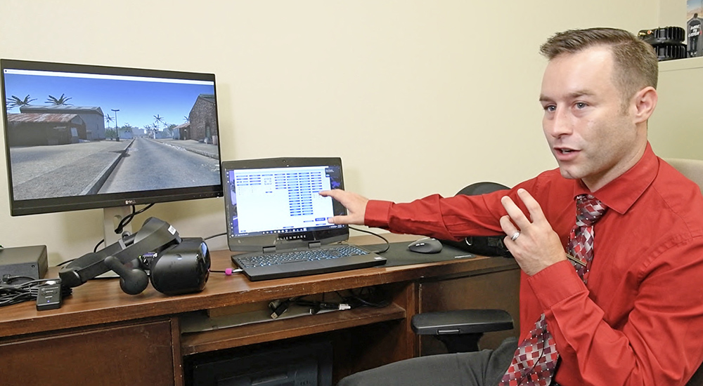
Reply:
<svg viewBox="0 0 703 386"><path fill-rule="evenodd" d="M181 354L185 356L223 350L342 328L364 326L381 321L404 319L405 317L406 310L392 303L382 308L359 307L353 310L325 312L324 314L266 321L213 331L186 333L181 336Z"/></svg>

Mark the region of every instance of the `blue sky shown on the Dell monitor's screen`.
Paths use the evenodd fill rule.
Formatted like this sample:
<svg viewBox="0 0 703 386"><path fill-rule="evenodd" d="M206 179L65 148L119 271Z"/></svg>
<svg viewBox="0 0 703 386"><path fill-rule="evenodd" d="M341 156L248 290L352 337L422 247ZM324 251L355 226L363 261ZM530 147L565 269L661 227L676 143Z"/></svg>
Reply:
<svg viewBox="0 0 703 386"><path fill-rule="evenodd" d="M133 77L133 79L136 79ZM146 79L146 78L145 78ZM214 84L166 83L148 78L148 81L129 79L99 79L94 77L42 76L34 74L5 74L5 95L23 100L26 95L36 98L32 105L50 106L49 95L60 98L61 94L70 105L79 107L101 107L103 114L115 118L117 124L144 128L155 122L159 115L167 124L183 124L200 94L214 94ZM202 82L200 82L202 83ZM8 110L18 113L18 107ZM115 121L105 126L114 127ZM163 123L159 124L164 128Z"/></svg>

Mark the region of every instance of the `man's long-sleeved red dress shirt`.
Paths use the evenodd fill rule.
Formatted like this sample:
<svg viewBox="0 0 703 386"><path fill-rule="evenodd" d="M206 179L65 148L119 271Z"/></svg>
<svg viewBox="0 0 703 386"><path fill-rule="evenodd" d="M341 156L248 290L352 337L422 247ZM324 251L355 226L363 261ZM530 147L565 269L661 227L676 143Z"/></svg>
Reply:
<svg viewBox="0 0 703 386"><path fill-rule="evenodd" d="M558 169L510 191L369 201L365 223L439 239L503 234L501 197L527 189L566 246L578 194ZM703 361L703 197L650 145L629 171L592 193L609 209L595 224L594 257L579 279L567 260L520 279L520 338L546 314L561 355L560 385L684 385Z"/></svg>

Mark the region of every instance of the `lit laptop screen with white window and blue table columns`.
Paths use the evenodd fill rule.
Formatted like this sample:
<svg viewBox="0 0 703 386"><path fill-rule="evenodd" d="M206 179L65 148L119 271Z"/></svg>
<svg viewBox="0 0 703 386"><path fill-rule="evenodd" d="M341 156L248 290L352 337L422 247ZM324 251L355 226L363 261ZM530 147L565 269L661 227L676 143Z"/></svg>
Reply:
<svg viewBox="0 0 703 386"><path fill-rule="evenodd" d="M333 166L227 171L233 236L305 232L335 227L333 200L318 194L341 187Z"/></svg>

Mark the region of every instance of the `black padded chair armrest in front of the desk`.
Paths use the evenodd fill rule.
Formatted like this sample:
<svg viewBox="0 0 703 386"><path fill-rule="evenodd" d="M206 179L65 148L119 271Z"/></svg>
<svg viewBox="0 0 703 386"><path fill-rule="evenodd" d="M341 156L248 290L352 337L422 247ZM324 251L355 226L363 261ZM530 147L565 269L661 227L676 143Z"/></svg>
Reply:
<svg viewBox="0 0 703 386"><path fill-rule="evenodd" d="M416 314L411 326L418 335L457 335L510 330L513 324L505 310L451 310Z"/></svg>

